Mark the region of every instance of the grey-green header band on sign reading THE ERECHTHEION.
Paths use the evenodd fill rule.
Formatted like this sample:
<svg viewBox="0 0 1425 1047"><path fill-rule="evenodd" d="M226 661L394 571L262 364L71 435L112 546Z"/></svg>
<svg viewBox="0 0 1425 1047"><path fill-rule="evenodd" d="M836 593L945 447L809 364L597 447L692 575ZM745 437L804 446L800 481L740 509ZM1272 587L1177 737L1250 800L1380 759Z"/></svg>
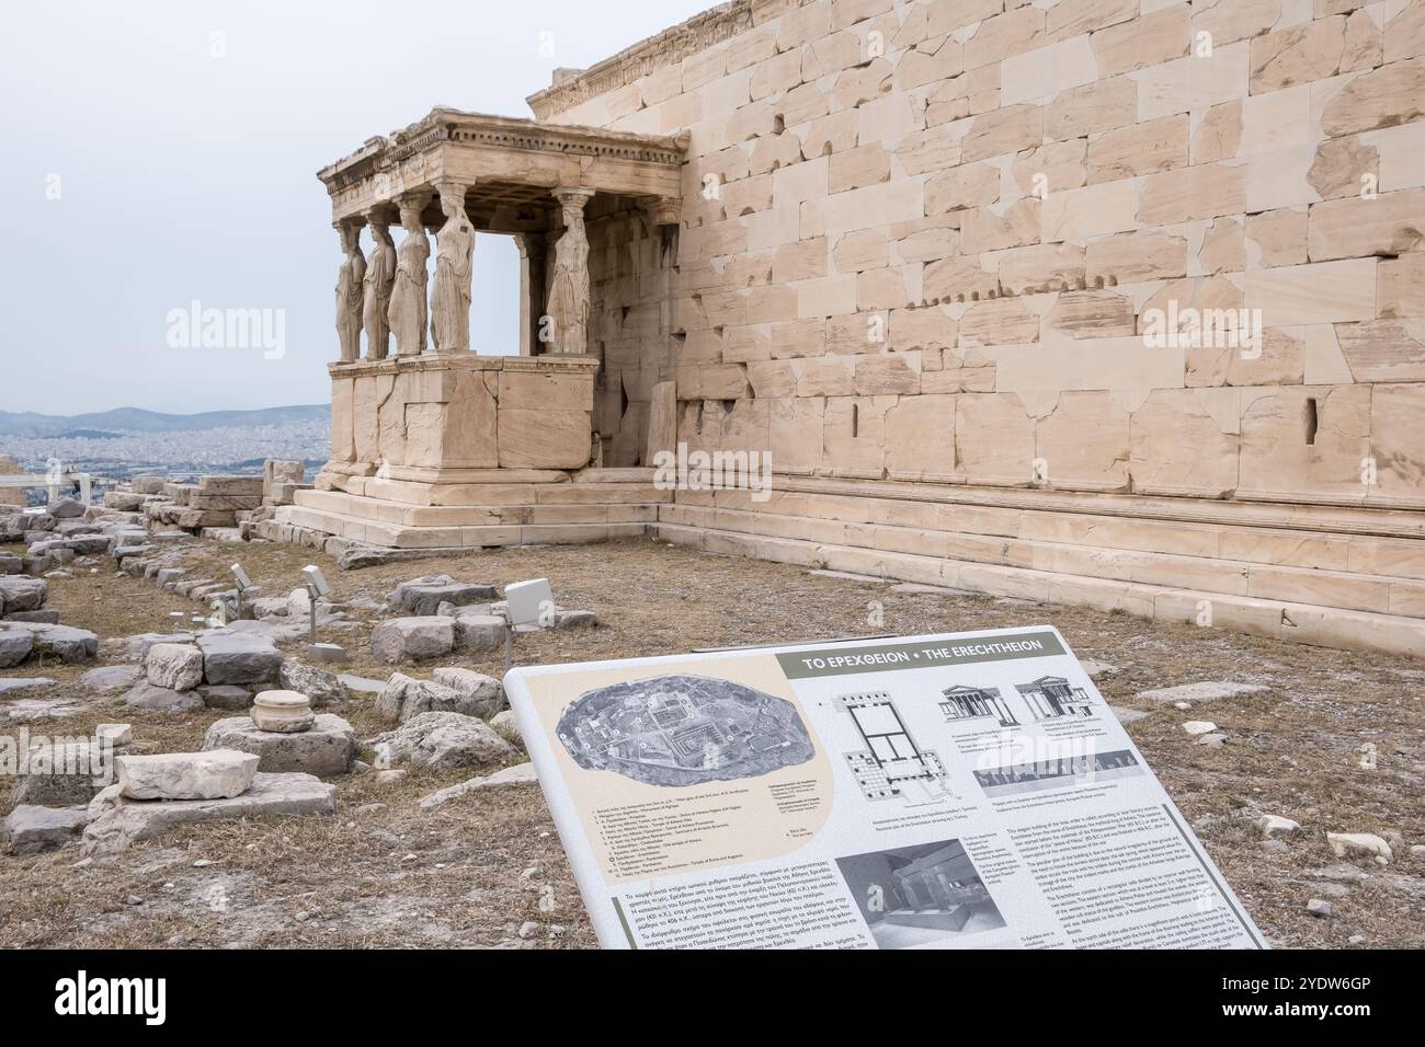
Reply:
<svg viewBox="0 0 1425 1047"><path fill-rule="evenodd" d="M1007 632L959 640L922 640L916 644L861 644L808 648L777 655L788 679L849 677L856 672L898 672L939 665L972 665L986 661L1046 658L1064 654L1059 637L1040 632Z"/></svg>

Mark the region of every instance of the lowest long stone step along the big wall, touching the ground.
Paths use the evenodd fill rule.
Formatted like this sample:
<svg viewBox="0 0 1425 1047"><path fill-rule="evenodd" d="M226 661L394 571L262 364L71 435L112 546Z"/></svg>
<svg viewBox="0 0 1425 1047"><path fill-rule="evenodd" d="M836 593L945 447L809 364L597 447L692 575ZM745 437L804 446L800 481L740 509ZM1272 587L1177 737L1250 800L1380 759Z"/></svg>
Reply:
<svg viewBox="0 0 1425 1047"><path fill-rule="evenodd" d="M942 560L660 523L654 536L705 553L745 556L996 597L1124 611L1156 621L1203 624L1271 640L1419 657L1425 621L1391 614L1257 600L1201 590L1076 577L1023 567ZM948 597L950 598L950 597ZM1027 610L1027 608L1026 608ZM1206 615L1210 615L1206 617ZM1027 617L1026 617L1027 624Z"/></svg>

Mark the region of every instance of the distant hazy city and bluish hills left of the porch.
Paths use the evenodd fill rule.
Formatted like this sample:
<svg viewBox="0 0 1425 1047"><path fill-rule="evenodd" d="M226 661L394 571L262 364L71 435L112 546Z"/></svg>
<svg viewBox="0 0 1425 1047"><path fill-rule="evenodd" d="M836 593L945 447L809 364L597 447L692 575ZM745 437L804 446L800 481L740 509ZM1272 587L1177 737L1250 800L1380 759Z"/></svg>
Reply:
<svg viewBox="0 0 1425 1047"><path fill-rule="evenodd" d="M27 473L44 473L58 463L66 472L95 479L162 474L187 480L202 473L261 473L265 459L305 462L311 476L331 452L325 405L225 413L231 420L224 413L194 415L191 427L175 415L131 409L110 415L128 424L95 427L103 416L78 416L73 419L77 424L63 427L54 417L0 412L0 457L14 459Z"/></svg>

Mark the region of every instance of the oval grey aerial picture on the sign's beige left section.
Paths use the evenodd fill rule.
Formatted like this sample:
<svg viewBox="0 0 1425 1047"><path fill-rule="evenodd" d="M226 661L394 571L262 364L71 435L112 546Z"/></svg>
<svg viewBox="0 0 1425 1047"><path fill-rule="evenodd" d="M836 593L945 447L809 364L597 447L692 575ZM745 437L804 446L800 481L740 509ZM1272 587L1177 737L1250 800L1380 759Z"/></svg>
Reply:
<svg viewBox="0 0 1425 1047"><path fill-rule="evenodd" d="M564 709L559 739L581 768L670 786L757 778L814 754L791 702L693 674L589 691Z"/></svg>

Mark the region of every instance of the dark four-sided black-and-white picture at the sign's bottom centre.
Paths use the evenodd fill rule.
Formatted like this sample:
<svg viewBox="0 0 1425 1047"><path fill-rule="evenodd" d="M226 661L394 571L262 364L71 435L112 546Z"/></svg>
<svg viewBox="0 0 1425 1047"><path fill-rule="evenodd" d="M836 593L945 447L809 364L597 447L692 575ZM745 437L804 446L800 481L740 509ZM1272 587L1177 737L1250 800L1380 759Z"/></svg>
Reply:
<svg viewBox="0 0 1425 1047"><path fill-rule="evenodd" d="M959 840L838 858L881 949L913 949L999 930L1005 917Z"/></svg>

